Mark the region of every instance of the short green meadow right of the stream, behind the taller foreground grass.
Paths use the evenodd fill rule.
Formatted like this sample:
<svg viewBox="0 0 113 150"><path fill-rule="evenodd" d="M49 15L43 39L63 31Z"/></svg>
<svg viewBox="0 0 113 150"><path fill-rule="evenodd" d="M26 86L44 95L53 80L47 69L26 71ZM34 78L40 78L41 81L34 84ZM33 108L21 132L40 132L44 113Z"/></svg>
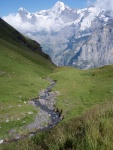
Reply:
<svg viewBox="0 0 113 150"><path fill-rule="evenodd" d="M50 77L57 80L54 88L60 91L57 107L63 110L65 121L113 99L112 65L90 70L60 67Z"/></svg>

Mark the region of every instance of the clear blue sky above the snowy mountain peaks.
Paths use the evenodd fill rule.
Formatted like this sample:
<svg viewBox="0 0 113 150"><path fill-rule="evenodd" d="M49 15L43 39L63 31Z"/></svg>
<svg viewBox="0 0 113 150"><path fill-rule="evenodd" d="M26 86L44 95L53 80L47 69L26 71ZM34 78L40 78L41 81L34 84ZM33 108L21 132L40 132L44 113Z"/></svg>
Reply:
<svg viewBox="0 0 113 150"><path fill-rule="evenodd" d="M58 0L0 0L0 17L16 13L20 7L30 12L51 8ZM71 8L85 8L87 2L94 0L60 0Z"/></svg>

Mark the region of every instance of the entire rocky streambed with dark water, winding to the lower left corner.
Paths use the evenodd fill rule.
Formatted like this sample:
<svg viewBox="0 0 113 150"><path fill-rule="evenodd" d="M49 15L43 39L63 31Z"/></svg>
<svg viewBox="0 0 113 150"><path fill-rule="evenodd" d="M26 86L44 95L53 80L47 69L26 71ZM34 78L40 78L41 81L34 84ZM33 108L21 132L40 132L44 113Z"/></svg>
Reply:
<svg viewBox="0 0 113 150"><path fill-rule="evenodd" d="M25 139L34 136L38 132L51 129L63 119L61 116L62 111L59 111L55 108L56 98L59 95L59 92L52 91L52 88L55 86L56 81L51 79L47 80L50 81L50 86L48 86L45 90L41 90L38 98L34 98L29 101L31 105L38 107L39 111L35 116L34 122L22 127L22 130L26 130L27 133L24 135L16 134L13 139L0 140L0 144L14 142L19 139ZM13 132L14 130L11 130L10 134L13 134Z"/></svg>

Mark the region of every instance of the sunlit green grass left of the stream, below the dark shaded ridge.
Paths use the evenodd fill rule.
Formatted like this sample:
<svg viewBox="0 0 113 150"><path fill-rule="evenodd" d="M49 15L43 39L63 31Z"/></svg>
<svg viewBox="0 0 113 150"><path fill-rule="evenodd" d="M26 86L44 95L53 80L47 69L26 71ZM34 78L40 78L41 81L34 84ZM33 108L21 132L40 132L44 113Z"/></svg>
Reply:
<svg viewBox="0 0 113 150"><path fill-rule="evenodd" d="M37 111L27 101L38 97L39 90L46 88L49 83L41 79L46 72L45 69L21 55L9 52L6 48L1 50L0 61L0 83L2 85L0 87L0 133L2 133L0 137L2 138L2 135L7 134L9 124L12 124L10 128L14 127L13 122L6 123L7 118L10 121L15 121L16 118L24 119L26 123L32 121L32 117L27 112L33 111L35 115ZM29 121L20 112L26 113ZM7 125L4 126L4 124ZM17 126L18 123L15 124L15 127Z"/></svg>

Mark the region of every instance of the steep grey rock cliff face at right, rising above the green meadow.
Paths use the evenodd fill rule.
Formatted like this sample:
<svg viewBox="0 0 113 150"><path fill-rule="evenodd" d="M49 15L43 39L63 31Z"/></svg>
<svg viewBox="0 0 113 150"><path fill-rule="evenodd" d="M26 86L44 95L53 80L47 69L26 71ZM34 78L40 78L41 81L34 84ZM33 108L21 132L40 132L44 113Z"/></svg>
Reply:
<svg viewBox="0 0 113 150"><path fill-rule="evenodd" d="M108 24L89 36L68 65L81 69L113 64L113 26Z"/></svg>

